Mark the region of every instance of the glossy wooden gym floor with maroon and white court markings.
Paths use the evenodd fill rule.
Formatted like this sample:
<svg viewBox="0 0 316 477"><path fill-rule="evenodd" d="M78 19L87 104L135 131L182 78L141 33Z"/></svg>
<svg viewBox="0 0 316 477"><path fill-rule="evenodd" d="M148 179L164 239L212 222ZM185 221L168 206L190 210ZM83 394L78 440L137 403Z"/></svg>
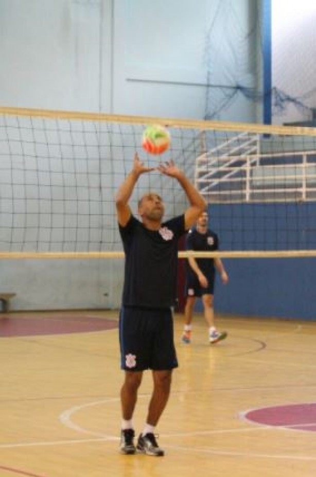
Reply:
<svg viewBox="0 0 316 477"><path fill-rule="evenodd" d="M191 345L157 427L164 457L121 455L116 312L0 314L1 477L314 477L316 322L217 318ZM151 392L145 374L134 423Z"/></svg>

